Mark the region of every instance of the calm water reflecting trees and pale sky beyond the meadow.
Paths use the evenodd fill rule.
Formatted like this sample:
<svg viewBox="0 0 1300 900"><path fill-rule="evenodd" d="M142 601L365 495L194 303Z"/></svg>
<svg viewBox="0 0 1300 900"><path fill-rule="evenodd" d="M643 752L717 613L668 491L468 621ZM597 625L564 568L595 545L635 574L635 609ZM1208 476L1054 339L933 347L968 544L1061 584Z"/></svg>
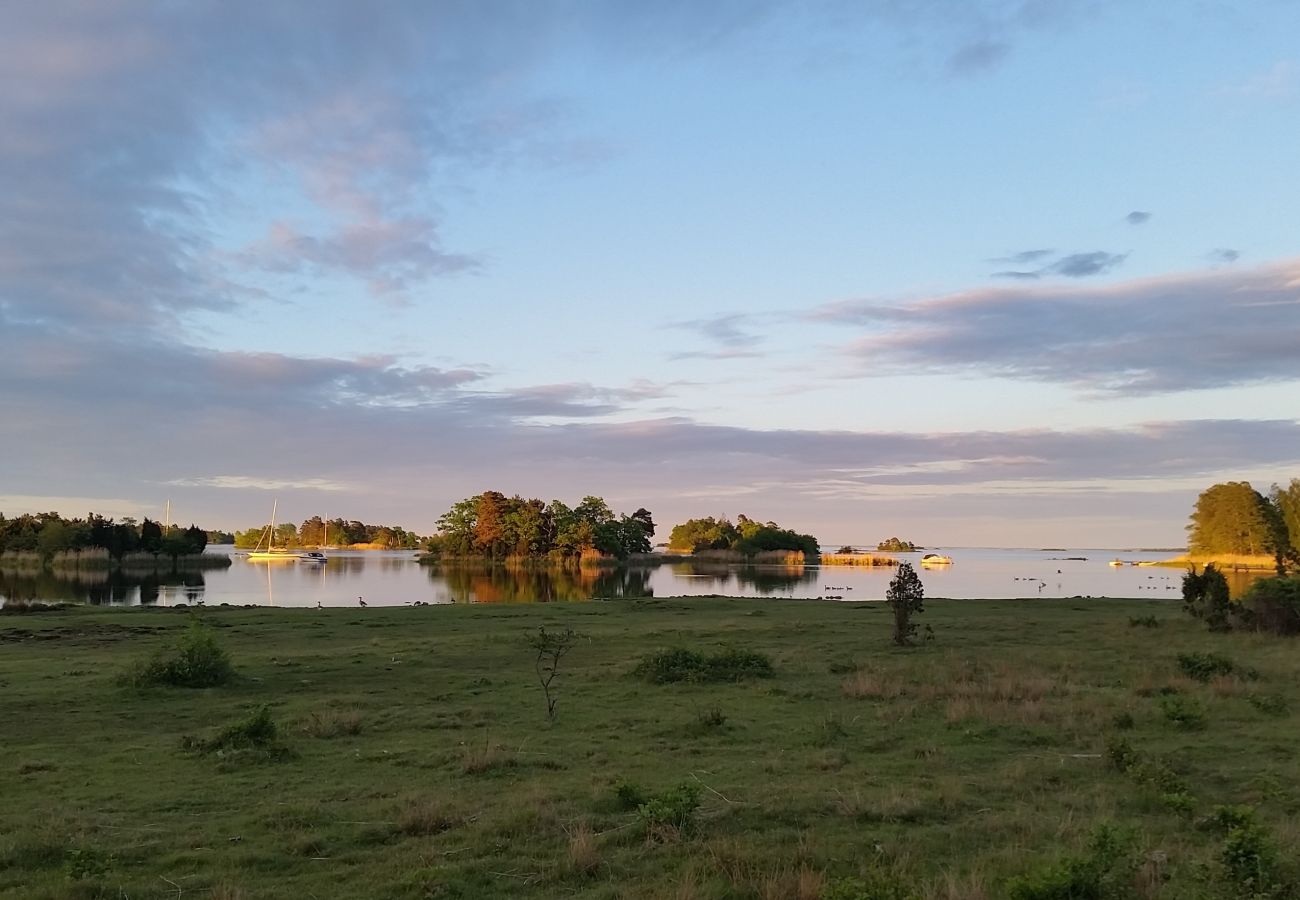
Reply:
<svg viewBox="0 0 1300 900"><path fill-rule="evenodd" d="M230 553L231 548L209 548ZM1150 597L1180 600L1182 572L1174 568L1112 567L1112 559L1162 559L1169 553L1115 550L950 549L953 564L918 566L927 597ZM896 554L916 562L919 553ZM1066 559L1084 557L1084 559ZM841 597L883 600L892 568L741 567L675 563L658 568L507 570L447 568L415 562L410 551L330 553L324 566L299 562L248 562L207 572L60 572L34 575L0 571L0 600L73 600L113 605L257 603L270 606L400 606L404 603L534 602L594 597ZM1240 590L1248 575L1232 581Z"/></svg>

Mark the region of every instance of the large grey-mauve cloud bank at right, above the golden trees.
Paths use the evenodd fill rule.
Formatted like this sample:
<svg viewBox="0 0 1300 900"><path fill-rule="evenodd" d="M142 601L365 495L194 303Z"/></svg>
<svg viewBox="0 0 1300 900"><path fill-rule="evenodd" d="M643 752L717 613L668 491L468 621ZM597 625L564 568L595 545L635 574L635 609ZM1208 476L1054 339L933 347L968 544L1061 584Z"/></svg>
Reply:
<svg viewBox="0 0 1300 900"><path fill-rule="evenodd" d="M975 371L1105 394L1291 381L1300 372L1300 259L1101 287L838 303L811 317L867 326L846 351L878 373Z"/></svg>

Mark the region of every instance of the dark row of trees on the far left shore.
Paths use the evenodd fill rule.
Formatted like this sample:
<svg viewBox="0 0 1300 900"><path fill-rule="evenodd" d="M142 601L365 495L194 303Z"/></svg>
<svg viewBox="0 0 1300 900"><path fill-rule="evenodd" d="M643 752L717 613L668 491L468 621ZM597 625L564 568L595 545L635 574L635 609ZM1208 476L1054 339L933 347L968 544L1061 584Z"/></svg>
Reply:
<svg viewBox="0 0 1300 900"><path fill-rule="evenodd" d="M169 557L203 553L208 532L196 525L164 527L144 518L121 522L88 514L84 519L65 519L57 512L23 514L6 519L0 512L0 553L39 553L49 559L56 553L103 549L113 559L129 553L153 553Z"/></svg>

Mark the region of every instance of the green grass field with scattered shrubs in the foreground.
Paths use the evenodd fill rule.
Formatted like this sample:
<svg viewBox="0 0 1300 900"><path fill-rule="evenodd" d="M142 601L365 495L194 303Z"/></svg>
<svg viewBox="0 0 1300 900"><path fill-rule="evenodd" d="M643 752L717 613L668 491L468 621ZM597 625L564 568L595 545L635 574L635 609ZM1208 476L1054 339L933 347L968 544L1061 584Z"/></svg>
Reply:
<svg viewBox="0 0 1300 900"><path fill-rule="evenodd" d="M121 683L194 611L0 616L0 896L1249 896L1206 823L1219 804L1254 806L1280 861L1251 890L1294 888L1296 644L1212 635L1167 601L930 601L935 640L911 649L881 603L200 614L228 685ZM554 723L540 624L585 636ZM632 674L670 646L758 650L775 672ZM1254 671L1202 683L1180 653ZM270 749L214 747L263 704ZM1104 892L1015 886L1104 823L1130 848Z"/></svg>

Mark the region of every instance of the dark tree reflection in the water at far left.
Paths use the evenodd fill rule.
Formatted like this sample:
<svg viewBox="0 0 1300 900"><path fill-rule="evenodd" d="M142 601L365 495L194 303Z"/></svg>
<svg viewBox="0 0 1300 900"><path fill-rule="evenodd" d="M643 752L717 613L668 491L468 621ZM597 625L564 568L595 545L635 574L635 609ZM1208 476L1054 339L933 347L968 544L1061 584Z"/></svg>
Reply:
<svg viewBox="0 0 1300 900"><path fill-rule="evenodd" d="M77 601L94 606L170 606L202 602L207 579L200 571L0 570L0 598Z"/></svg>

